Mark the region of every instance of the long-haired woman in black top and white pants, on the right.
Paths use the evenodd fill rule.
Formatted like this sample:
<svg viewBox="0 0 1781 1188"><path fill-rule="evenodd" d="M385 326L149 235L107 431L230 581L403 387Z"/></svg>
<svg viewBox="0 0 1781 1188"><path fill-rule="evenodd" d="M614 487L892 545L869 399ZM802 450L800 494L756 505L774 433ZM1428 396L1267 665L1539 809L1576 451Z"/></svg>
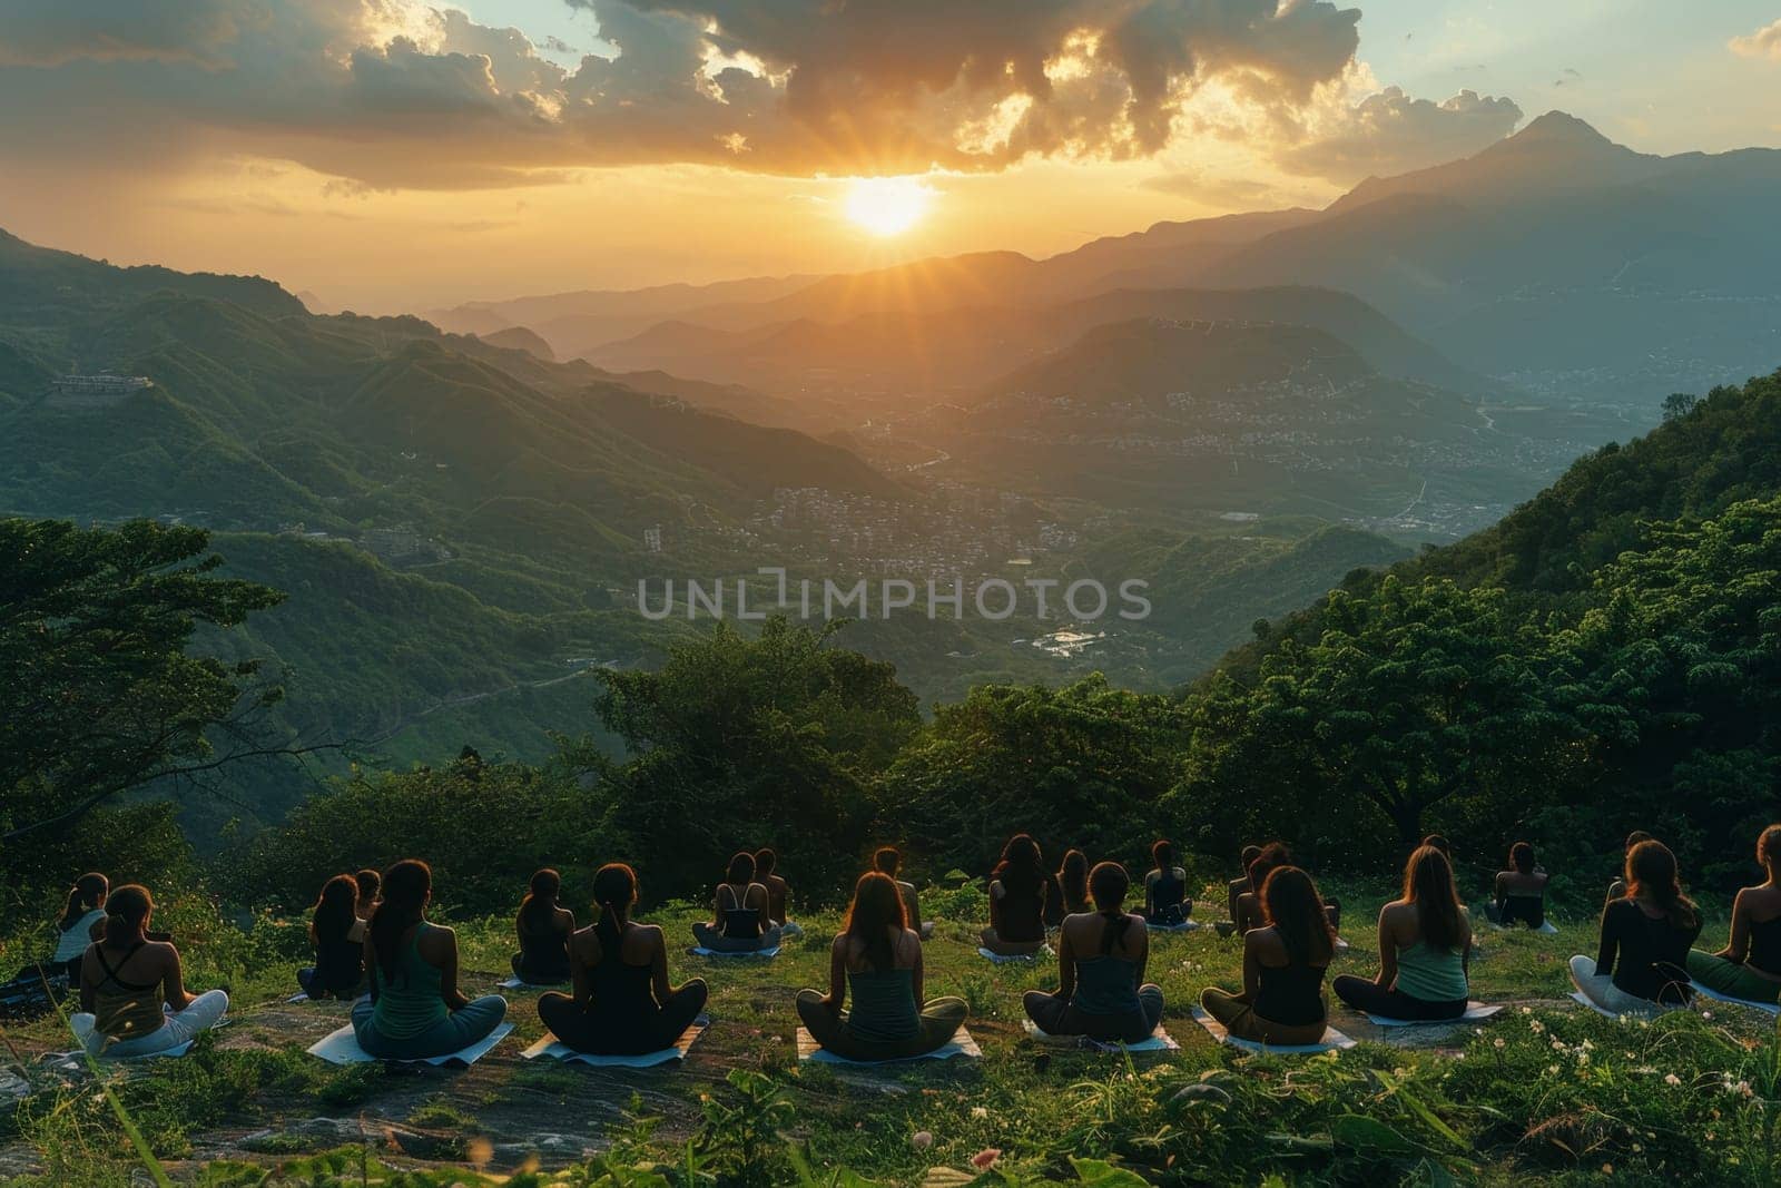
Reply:
<svg viewBox="0 0 1781 1188"><path fill-rule="evenodd" d="M1614 1015L1685 1006L1688 949L1701 935L1701 914L1681 892L1676 855L1660 841L1642 841L1626 855L1626 894L1601 912L1596 960L1571 958L1571 981Z"/></svg>

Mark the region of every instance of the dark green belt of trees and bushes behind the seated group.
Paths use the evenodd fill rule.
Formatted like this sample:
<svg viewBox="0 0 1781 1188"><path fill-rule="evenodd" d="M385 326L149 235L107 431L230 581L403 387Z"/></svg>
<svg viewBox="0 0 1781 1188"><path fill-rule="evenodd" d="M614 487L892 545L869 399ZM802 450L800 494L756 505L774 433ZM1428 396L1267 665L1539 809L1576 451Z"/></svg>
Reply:
<svg viewBox="0 0 1781 1188"><path fill-rule="evenodd" d="M1770 819L1781 775L1781 376L1667 411L1500 525L1257 622L1177 693L980 686L924 714L846 625L716 625L659 668L597 673L584 736L549 762L452 748L354 771L208 878L292 907L415 851L481 908L541 862L625 857L679 898L771 842L832 892L876 842L940 876L987 869L1013 830L1134 862L1158 834L1216 864L1282 837L1327 871L1441 830L1462 866L1526 837L1564 873L1642 826L1696 885L1729 887L1745 853L1726 839ZM251 657L192 641L271 620L280 593L219 574L196 529L12 520L0 541L0 647L28 673L4 707L4 910L41 910L121 846L144 875L189 867L157 794L226 794L230 764L296 750L265 730L278 689Z"/></svg>

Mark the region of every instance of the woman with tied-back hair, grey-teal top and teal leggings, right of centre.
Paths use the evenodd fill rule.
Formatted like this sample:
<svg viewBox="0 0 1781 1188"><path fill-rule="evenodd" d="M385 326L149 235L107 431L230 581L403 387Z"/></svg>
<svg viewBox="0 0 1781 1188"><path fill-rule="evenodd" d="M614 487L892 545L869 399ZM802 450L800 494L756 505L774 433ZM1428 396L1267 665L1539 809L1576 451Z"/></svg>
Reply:
<svg viewBox="0 0 1781 1188"><path fill-rule="evenodd" d="M1026 992L1026 1013L1047 1035L1086 1035L1102 1042L1142 1044L1163 1019L1163 989L1145 983L1151 935L1142 915L1126 910L1131 876L1118 862L1088 873L1094 912L1058 930L1058 990Z"/></svg>

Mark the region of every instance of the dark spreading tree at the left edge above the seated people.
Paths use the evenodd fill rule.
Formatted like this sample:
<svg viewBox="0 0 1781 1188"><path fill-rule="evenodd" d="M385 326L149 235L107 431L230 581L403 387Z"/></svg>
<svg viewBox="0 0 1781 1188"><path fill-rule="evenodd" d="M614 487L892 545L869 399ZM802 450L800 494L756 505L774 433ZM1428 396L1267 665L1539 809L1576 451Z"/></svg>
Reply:
<svg viewBox="0 0 1781 1188"><path fill-rule="evenodd" d="M283 595L217 577L208 534L132 522L0 520L0 830L68 830L153 780L283 746L253 736L278 702L255 661L192 655ZM226 739L224 748L216 741Z"/></svg>

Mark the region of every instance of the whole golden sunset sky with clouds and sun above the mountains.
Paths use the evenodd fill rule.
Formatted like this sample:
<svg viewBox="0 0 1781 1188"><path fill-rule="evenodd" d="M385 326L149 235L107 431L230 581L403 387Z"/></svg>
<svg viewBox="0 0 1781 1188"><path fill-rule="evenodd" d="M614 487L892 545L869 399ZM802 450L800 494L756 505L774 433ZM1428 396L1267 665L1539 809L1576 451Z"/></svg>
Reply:
<svg viewBox="0 0 1781 1188"><path fill-rule="evenodd" d="M0 0L0 228L394 312L1045 255L1322 205L1549 109L1781 144L1781 9Z"/></svg>

